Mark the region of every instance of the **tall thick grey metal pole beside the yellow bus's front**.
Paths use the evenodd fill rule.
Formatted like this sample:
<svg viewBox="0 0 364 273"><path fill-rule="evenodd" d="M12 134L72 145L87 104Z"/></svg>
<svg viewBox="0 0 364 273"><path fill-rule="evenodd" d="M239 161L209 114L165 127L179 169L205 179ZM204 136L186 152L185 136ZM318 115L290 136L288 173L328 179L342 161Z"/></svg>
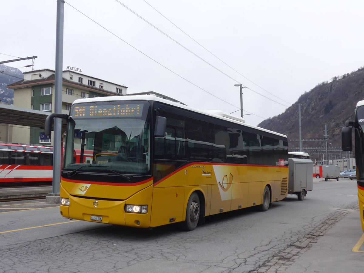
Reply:
<svg viewBox="0 0 364 273"><path fill-rule="evenodd" d="M63 18L64 1L57 0L57 25L56 25L56 68L55 68L55 92L54 112L62 113L62 63L63 63ZM50 195L59 195L61 181L61 134L62 121L54 120L54 154L53 154L53 183Z"/></svg>

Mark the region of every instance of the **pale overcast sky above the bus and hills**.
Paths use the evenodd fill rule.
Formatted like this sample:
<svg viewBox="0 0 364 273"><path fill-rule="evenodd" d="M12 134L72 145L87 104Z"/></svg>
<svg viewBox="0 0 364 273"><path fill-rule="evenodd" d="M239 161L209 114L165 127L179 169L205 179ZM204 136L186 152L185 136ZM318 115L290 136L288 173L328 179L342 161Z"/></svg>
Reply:
<svg viewBox="0 0 364 273"><path fill-rule="evenodd" d="M0 61L38 56L34 70L54 70L56 7L2 1ZM243 84L244 118L257 125L364 66L363 14L363 0L67 0L63 69L237 116Z"/></svg>

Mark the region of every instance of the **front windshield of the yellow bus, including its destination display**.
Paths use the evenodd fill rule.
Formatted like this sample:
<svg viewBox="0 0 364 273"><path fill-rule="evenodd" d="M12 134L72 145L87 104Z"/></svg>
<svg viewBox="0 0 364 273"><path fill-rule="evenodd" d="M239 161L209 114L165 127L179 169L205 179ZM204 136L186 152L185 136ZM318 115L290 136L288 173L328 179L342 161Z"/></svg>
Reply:
<svg viewBox="0 0 364 273"><path fill-rule="evenodd" d="M150 174L150 104L74 104L67 124L63 170ZM70 175L70 173L68 173Z"/></svg>

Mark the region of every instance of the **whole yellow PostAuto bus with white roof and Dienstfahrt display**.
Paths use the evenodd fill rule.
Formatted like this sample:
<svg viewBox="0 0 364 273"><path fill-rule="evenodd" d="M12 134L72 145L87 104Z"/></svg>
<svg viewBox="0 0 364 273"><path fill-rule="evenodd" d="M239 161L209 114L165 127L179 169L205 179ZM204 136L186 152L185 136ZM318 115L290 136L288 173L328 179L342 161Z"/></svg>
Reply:
<svg viewBox="0 0 364 273"><path fill-rule="evenodd" d="M266 211L287 196L287 137L237 116L155 95L78 99L54 116L68 120L63 217L193 230L205 216Z"/></svg>

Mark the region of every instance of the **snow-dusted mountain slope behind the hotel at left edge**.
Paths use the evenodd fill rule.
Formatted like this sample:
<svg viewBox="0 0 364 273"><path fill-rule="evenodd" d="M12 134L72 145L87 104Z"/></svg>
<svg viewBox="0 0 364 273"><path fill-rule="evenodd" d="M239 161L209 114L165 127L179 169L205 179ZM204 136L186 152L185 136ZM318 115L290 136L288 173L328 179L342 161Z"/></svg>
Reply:
<svg viewBox="0 0 364 273"><path fill-rule="evenodd" d="M0 99L1 102L13 104L14 90L6 88L7 85L23 79L24 75L17 68L0 64Z"/></svg>

